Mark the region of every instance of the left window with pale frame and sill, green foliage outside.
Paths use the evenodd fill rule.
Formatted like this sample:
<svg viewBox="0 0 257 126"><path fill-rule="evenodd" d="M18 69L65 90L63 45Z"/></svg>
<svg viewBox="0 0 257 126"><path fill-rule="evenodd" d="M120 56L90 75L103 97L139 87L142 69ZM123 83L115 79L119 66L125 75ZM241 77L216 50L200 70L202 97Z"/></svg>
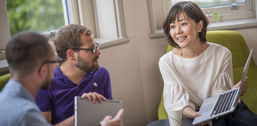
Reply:
<svg viewBox="0 0 257 126"><path fill-rule="evenodd" d="M32 30L49 36L69 23L91 29L100 49L129 42L121 0L0 1L0 16L0 49L17 32Z"/></svg>

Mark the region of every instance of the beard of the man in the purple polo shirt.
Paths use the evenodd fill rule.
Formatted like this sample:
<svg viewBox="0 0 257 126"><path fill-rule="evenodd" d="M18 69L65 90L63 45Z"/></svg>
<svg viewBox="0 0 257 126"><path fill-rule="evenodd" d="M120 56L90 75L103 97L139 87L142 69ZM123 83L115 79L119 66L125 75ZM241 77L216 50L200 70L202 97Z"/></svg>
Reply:
<svg viewBox="0 0 257 126"><path fill-rule="evenodd" d="M77 68L82 71L90 72L90 71L98 71L100 69L99 64L94 64L94 61L99 59L99 56L95 57L93 61L83 60L80 55L78 55L78 61L74 64Z"/></svg>

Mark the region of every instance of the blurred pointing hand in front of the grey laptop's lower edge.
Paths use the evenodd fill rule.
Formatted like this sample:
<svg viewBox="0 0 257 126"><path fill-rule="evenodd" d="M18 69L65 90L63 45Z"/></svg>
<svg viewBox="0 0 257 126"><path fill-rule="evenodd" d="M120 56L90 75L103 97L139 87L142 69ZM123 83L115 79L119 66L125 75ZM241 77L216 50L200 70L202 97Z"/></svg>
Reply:
<svg viewBox="0 0 257 126"><path fill-rule="evenodd" d="M124 109L120 109L117 115L112 118L110 115L104 117L104 119L100 122L101 126L122 126L120 123L120 119L123 115Z"/></svg>

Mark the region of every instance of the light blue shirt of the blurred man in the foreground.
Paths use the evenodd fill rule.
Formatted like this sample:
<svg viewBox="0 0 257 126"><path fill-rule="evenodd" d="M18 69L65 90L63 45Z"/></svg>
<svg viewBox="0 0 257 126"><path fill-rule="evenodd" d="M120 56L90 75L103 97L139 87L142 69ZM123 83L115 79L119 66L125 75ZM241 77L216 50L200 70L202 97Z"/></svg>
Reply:
<svg viewBox="0 0 257 126"><path fill-rule="evenodd" d="M0 92L1 126L50 125L35 103L31 93L19 82L9 80Z"/></svg>

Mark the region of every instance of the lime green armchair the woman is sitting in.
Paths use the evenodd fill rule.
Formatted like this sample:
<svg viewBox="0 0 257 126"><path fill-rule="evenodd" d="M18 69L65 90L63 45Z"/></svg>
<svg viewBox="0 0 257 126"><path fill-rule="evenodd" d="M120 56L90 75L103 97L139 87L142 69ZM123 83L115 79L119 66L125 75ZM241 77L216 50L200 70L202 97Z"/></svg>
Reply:
<svg viewBox="0 0 257 126"><path fill-rule="evenodd" d="M228 48L231 51L234 83L238 83L242 78L244 65L250 53L244 37L236 31L217 30L207 31L206 38L208 42L217 43ZM172 46L168 46L167 53L172 49ZM255 54L253 53L253 55ZM253 58L251 58L247 77L248 88L245 94L240 97L240 99L244 101L244 103L252 112L257 114L257 66ZM163 91L158 108L158 118L159 120L168 119L168 115L163 105Z"/></svg>

